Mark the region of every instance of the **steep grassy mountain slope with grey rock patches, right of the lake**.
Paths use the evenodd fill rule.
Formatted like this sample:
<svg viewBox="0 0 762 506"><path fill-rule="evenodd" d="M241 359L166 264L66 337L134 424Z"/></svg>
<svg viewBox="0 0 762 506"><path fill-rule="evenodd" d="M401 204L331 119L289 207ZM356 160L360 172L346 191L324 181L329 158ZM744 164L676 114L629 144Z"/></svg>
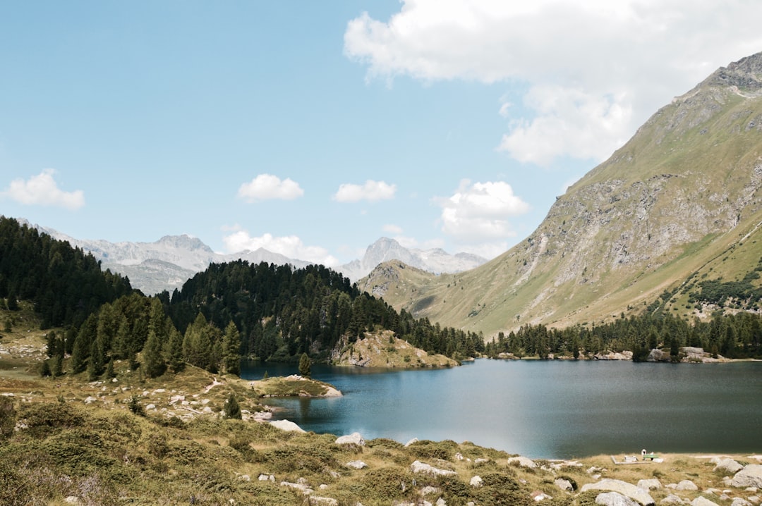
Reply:
<svg viewBox="0 0 762 506"><path fill-rule="evenodd" d="M385 263L360 288L486 337L523 323L596 323L653 301L703 316L688 302L698 280L740 280L760 261L760 186L762 53L658 110L498 258L436 277Z"/></svg>

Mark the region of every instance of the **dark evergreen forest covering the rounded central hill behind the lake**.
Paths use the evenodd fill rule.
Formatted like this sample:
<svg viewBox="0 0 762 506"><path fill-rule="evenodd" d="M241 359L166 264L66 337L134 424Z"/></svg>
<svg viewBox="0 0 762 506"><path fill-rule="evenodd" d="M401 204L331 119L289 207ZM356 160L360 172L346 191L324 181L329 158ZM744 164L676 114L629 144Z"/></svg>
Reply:
<svg viewBox="0 0 762 506"><path fill-rule="evenodd" d="M223 328L235 323L241 353L264 360L295 360L307 353L325 360L343 336L353 342L365 332L389 329L427 352L453 358L483 351L482 336L415 320L324 266L212 264L171 295L158 296L174 325L184 329L197 314Z"/></svg>

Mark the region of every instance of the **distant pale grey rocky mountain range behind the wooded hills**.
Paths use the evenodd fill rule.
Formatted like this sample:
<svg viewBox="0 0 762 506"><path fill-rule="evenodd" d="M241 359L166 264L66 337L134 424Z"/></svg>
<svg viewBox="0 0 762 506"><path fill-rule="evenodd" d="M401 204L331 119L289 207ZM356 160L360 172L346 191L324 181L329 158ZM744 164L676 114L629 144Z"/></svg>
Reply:
<svg viewBox="0 0 762 506"><path fill-rule="evenodd" d="M216 253L200 239L185 234L167 235L152 243L111 243L107 240L77 239L62 234L53 228L30 224L24 219L19 221L49 234L54 239L69 241L72 246L92 253L96 259L101 261L101 266L104 269L110 269L112 272L118 272L130 278L130 284L133 288L138 288L145 294L157 294L164 290L171 293L175 288L181 288L183 283L197 272L207 269L210 263L226 263L243 259L249 263L290 264L297 268L310 264L304 260L291 259L264 248L232 254ZM335 270L355 282L368 275L379 263L389 260L399 260L409 266L434 274L462 272L480 266L487 261L481 256L470 253L451 255L438 248L431 250L408 249L402 247L394 239L381 237L367 247L362 259L353 260Z"/></svg>

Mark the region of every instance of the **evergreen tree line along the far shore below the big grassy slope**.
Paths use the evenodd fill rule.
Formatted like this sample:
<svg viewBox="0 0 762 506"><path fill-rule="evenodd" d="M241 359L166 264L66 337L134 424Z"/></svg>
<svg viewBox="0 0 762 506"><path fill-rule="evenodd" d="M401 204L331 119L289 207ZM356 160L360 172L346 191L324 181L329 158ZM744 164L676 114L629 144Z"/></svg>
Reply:
<svg viewBox="0 0 762 506"><path fill-rule="evenodd" d="M709 322L696 319L689 323L664 312L629 318L622 314L611 323L591 328L523 325L507 336L499 333L497 339L485 345L485 354L547 358L552 353L577 358L581 353L629 350L637 361L645 360L654 348L669 348L676 358L679 348L684 346L704 348L726 358L762 358L762 315L739 312L717 315Z"/></svg>

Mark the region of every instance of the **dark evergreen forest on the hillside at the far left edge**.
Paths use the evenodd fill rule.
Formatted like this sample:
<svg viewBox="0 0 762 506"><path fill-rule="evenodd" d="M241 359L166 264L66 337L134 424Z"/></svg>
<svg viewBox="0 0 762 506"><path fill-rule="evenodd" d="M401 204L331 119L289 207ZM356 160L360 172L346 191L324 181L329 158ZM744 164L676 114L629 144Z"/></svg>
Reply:
<svg viewBox="0 0 762 506"><path fill-rule="evenodd" d="M0 299L7 299L8 309L33 301L43 329L78 327L102 304L131 291L128 278L101 272L90 253L0 216Z"/></svg>

